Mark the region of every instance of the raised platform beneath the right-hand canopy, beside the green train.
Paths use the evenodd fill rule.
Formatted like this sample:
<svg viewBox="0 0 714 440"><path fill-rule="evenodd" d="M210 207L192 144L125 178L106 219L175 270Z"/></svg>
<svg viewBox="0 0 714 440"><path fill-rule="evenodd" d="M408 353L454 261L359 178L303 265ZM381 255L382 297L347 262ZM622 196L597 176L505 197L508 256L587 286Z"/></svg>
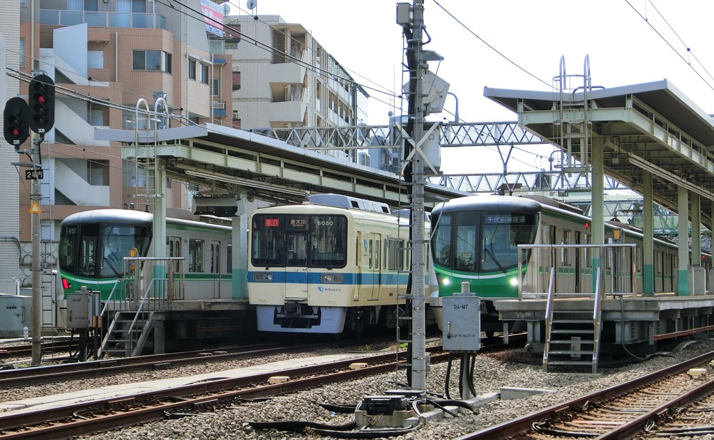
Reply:
<svg viewBox="0 0 714 440"><path fill-rule="evenodd" d="M555 300L554 311L562 316L590 316L592 322L594 304L590 297L560 298ZM502 321L525 321L528 346L536 352L543 351L546 298L508 299L495 301L494 305ZM658 341L688 335L704 337L714 330L713 309L713 294L608 294L600 307L603 347L625 344L633 349L639 346L641 353L647 353L655 349Z"/></svg>

